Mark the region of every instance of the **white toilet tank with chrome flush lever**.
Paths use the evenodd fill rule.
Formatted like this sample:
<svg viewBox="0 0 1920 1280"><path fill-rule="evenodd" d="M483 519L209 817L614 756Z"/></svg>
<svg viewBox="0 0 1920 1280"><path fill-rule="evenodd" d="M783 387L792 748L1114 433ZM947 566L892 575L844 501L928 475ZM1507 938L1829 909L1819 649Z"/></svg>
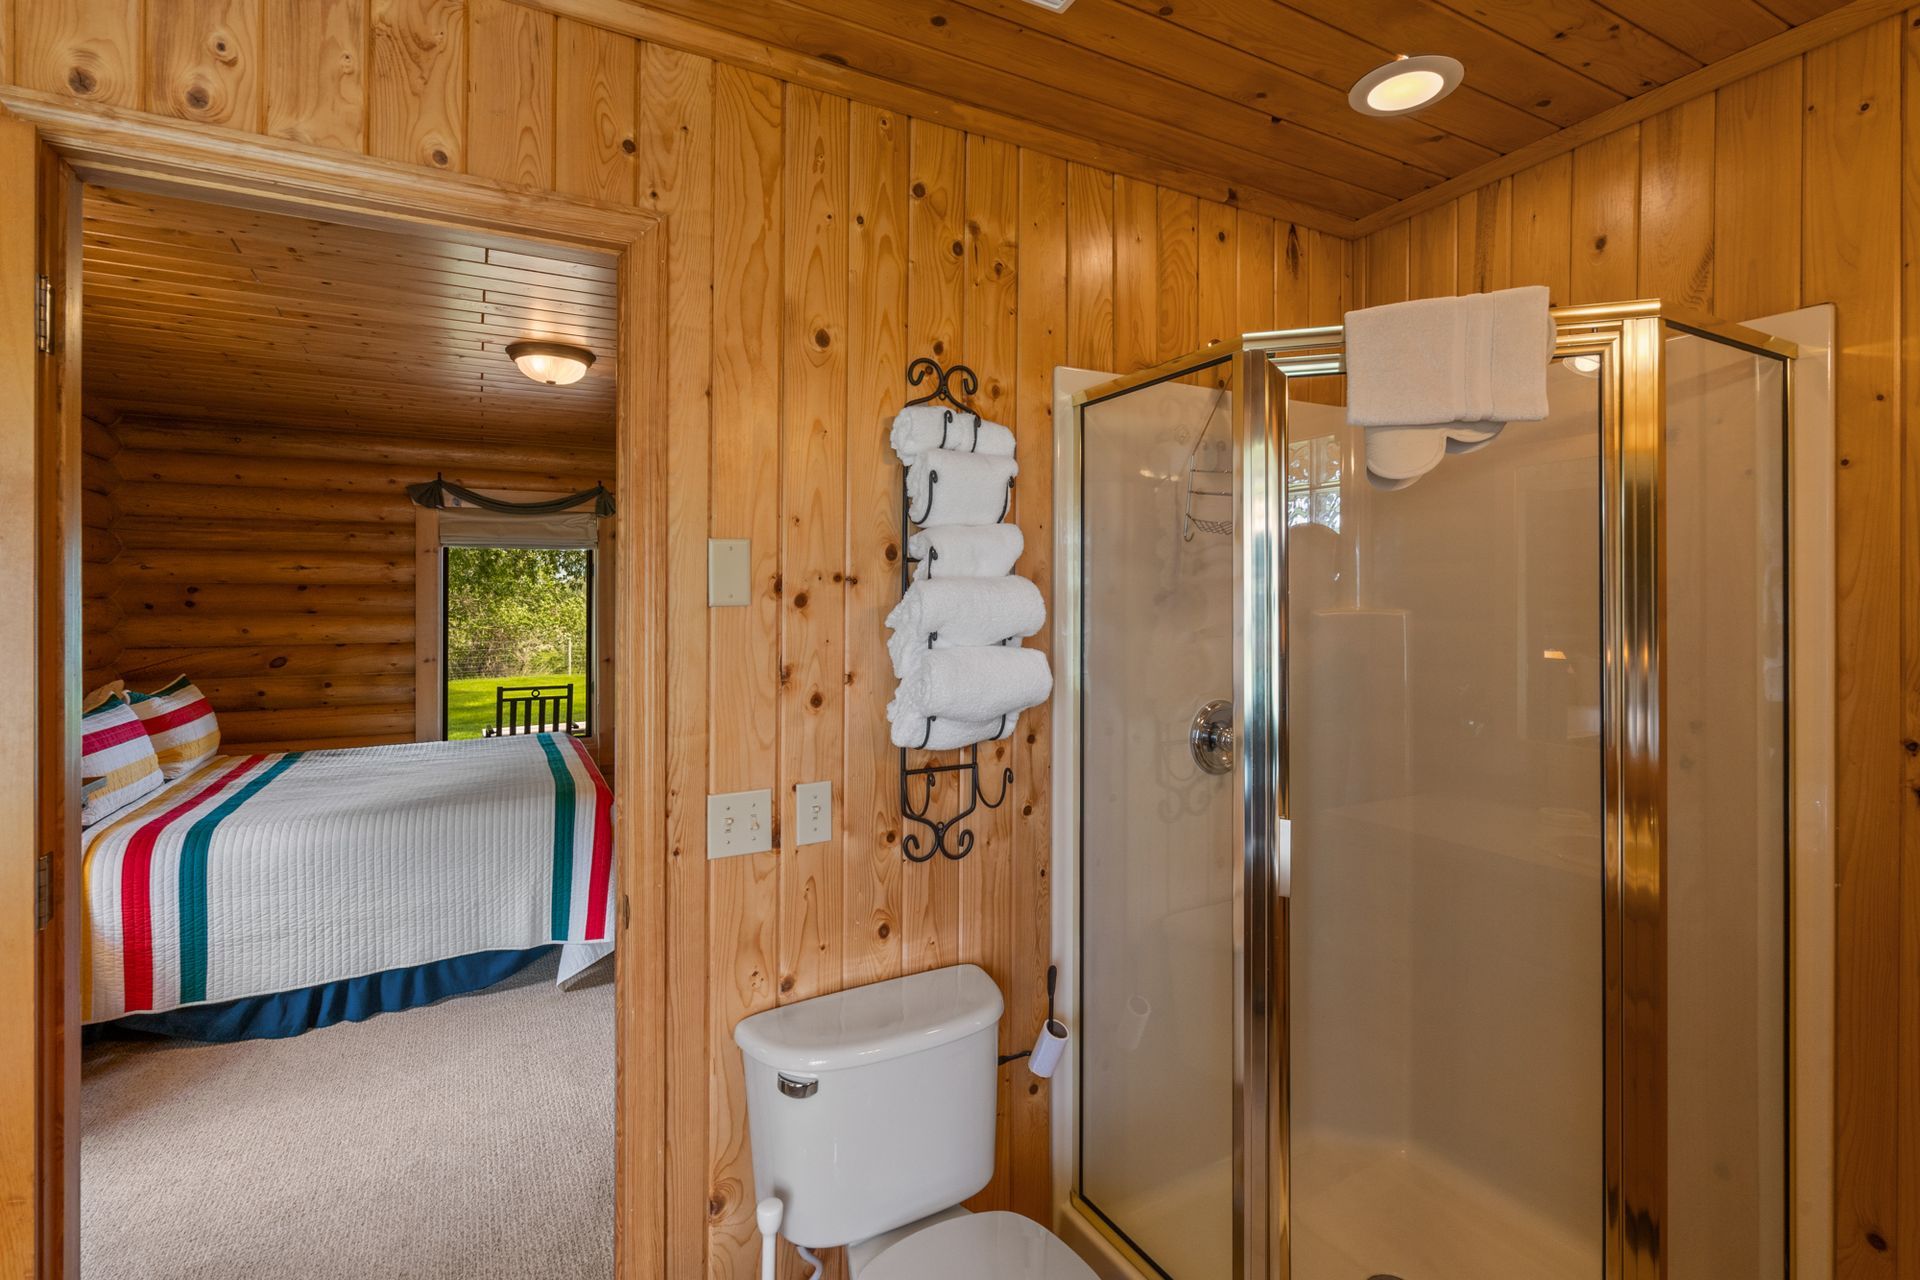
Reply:
<svg viewBox="0 0 1920 1280"><path fill-rule="evenodd" d="M808 1249L958 1205L993 1178L1000 988L933 969L755 1013L747 1061L758 1197Z"/></svg>

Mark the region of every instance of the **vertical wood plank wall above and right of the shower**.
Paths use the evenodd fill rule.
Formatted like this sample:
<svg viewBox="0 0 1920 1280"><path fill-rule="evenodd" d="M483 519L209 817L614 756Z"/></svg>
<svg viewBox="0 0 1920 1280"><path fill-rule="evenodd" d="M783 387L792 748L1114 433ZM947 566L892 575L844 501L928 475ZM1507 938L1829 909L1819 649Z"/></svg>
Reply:
<svg viewBox="0 0 1920 1280"><path fill-rule="evenodd" d="M1836 1261L1920 1276L1920 10L1369 234L1367 303L1837 309Z"/></svg>

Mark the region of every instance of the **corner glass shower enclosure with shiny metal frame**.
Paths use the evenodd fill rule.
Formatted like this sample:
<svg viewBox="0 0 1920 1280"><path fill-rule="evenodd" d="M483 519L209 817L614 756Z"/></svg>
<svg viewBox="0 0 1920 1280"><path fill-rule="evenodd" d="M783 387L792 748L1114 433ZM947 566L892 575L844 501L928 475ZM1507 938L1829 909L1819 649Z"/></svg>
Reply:
<svg viewBox="0 0 1920 1280"><path fill-rule="evenodd" d="M1786 1276L1791 345L1555 328L1404 487L1338 326L1075 397L1071 1207L1142 1276Z"/></svg>

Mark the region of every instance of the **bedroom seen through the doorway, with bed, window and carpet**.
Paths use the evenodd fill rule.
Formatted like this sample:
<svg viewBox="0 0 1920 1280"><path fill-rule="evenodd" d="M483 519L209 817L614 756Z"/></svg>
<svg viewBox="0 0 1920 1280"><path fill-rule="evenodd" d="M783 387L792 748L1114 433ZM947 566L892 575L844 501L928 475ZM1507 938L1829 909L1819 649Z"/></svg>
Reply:
<svg viewBox="0 0 1920 1280"><path fill-rule="evenodd" d="M605 1280L618 361L507 345L616 351L618 265L108 184L81 228L83 1272Z"/></svg>

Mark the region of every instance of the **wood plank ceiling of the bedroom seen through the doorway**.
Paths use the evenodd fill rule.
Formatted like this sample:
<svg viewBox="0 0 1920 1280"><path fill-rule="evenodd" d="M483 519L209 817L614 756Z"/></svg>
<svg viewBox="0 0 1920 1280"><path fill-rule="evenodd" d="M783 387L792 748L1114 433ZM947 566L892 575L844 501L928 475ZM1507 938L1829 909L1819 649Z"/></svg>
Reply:
<svg viewBox="0 0 1920 1280"><path fill-rule="evenodd" d="M88 188L90 413L605 447L614 361L551 388L518 338L614 349L614 265Z"/></svg>

